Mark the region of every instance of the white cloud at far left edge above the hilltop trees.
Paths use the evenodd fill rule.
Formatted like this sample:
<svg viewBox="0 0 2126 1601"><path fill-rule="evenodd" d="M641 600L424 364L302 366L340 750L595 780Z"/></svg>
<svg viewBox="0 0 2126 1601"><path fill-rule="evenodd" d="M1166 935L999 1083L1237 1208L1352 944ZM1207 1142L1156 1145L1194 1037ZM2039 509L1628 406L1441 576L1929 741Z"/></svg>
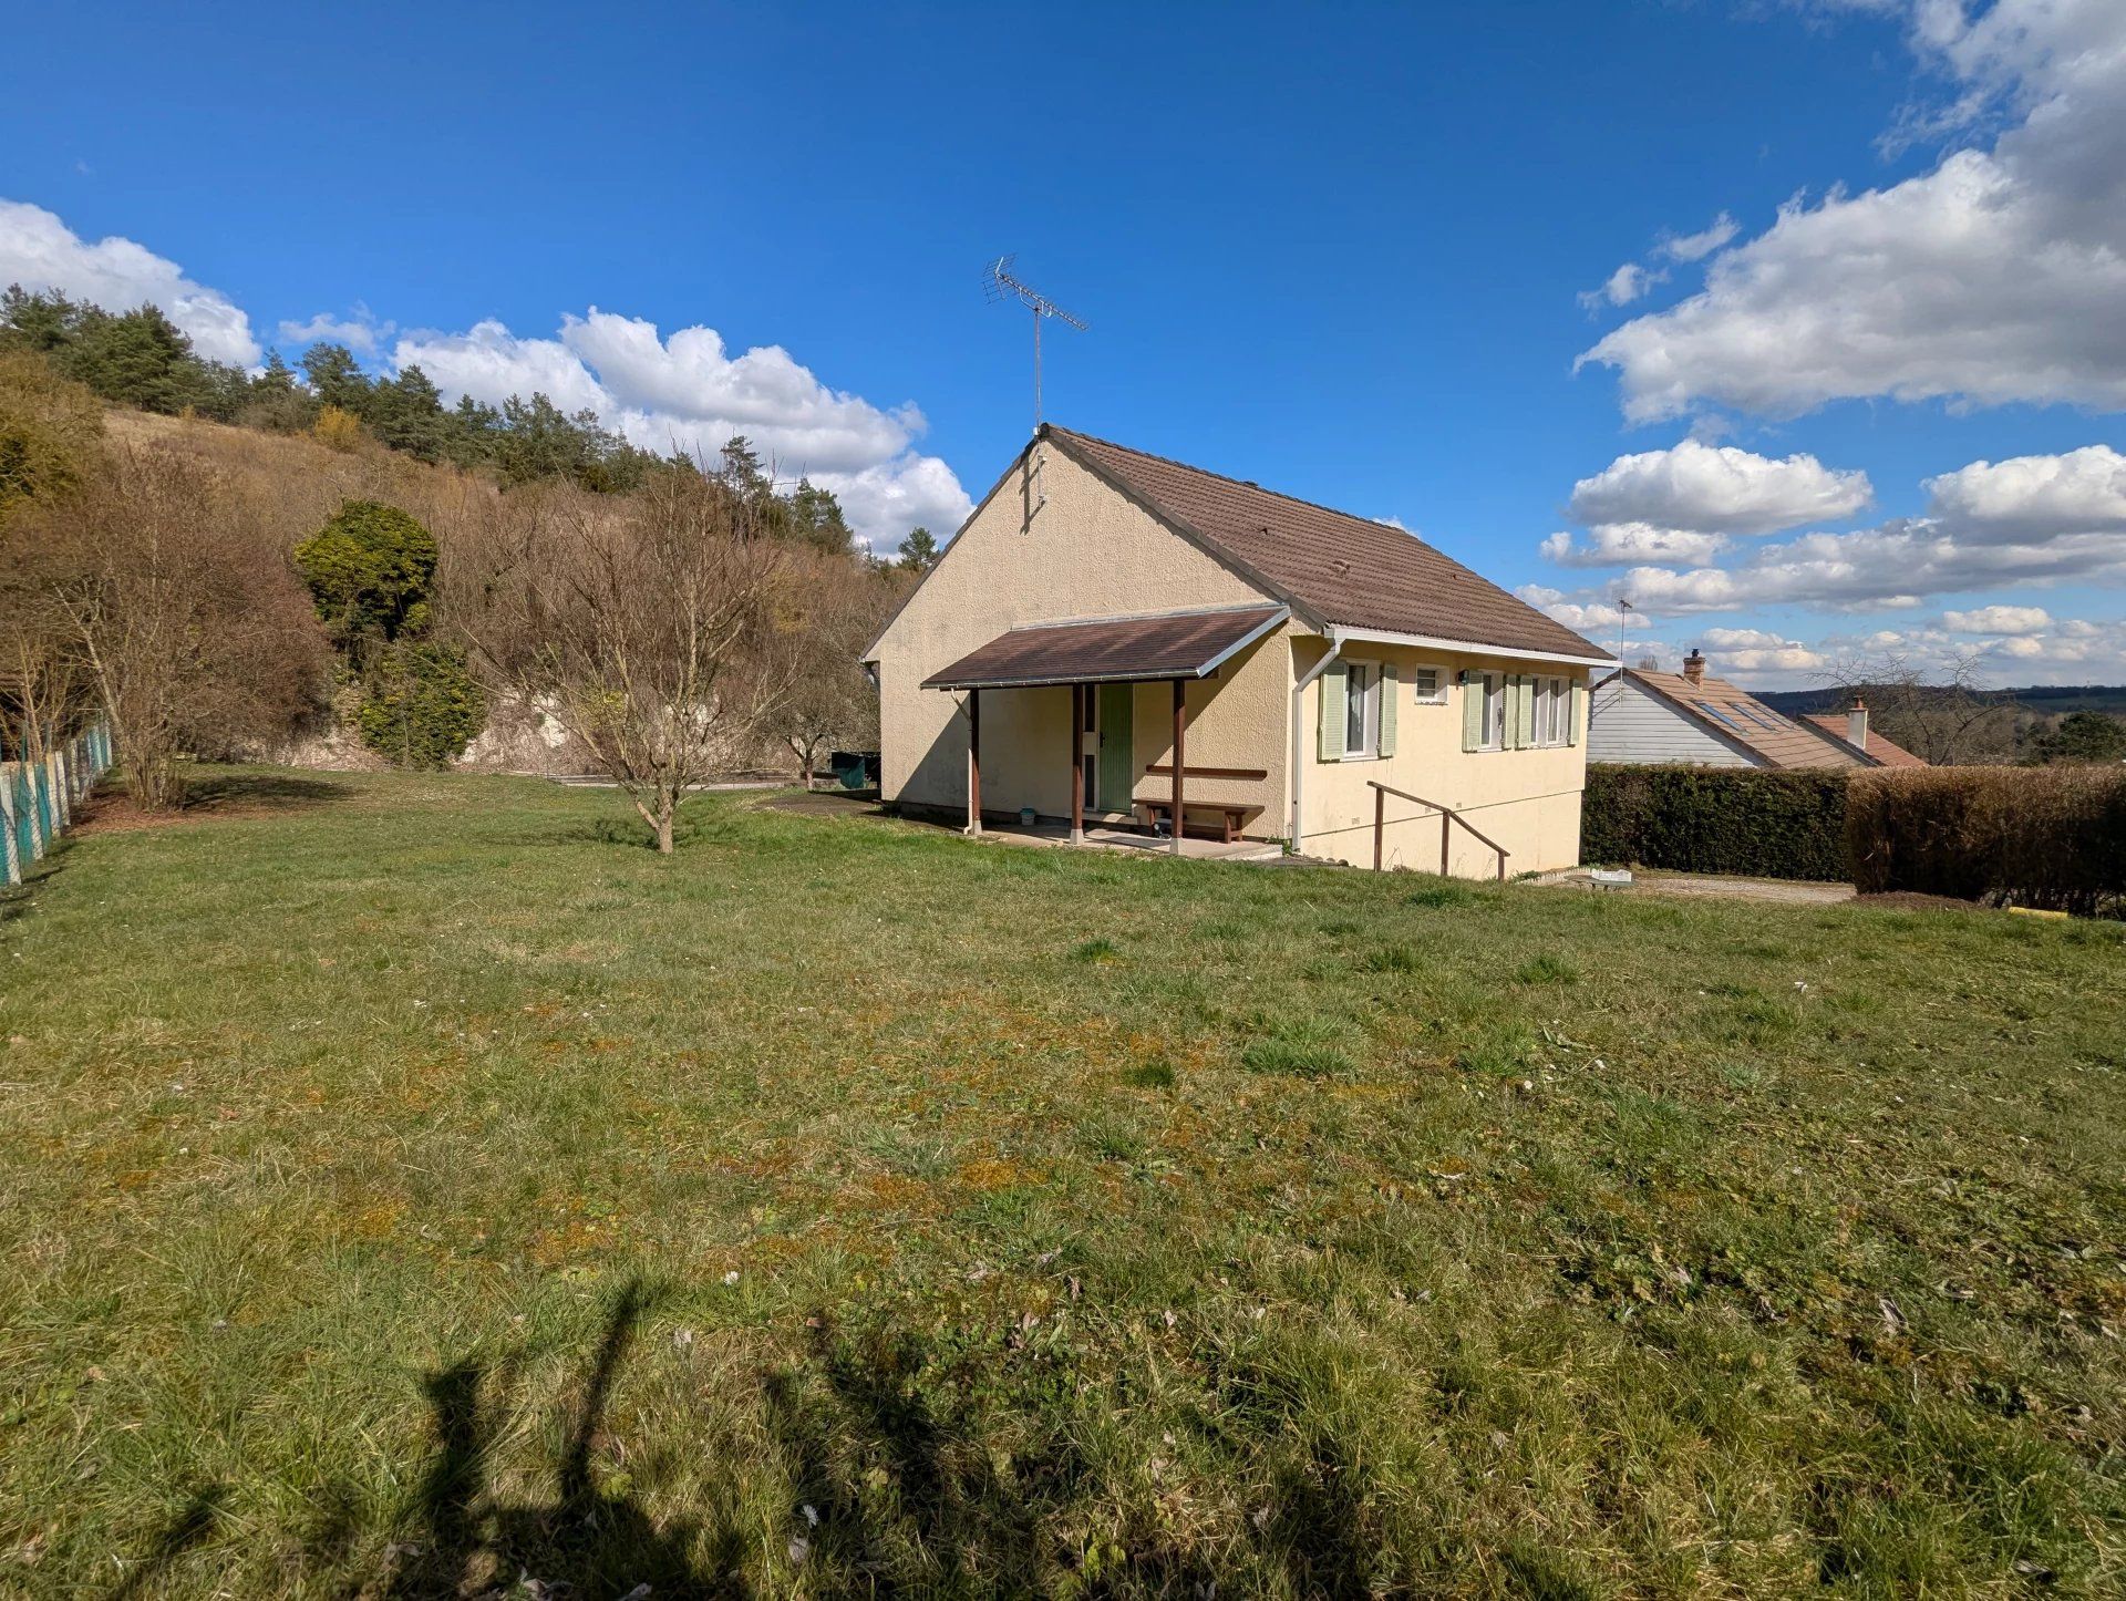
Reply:
<svg viewBox="0 0 2126 1601"><path fill-rule="evenodd" d="M176 262L130 238L94 245L53 213L23 200L0 200L0 287L60 291L104 310L159 306L210 361L253 366L261 351L251 319L219 289L185 276Z"/></svg>

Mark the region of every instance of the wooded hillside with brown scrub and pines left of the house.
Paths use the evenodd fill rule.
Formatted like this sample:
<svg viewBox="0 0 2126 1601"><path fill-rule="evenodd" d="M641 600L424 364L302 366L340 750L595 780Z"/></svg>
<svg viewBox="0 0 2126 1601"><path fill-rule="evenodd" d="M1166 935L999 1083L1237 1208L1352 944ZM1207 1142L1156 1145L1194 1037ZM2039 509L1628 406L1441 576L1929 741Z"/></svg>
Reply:
<svg viewBox="0 0 2126 1601"><path fill-rule="evenodd" d="M0 755L106 714L136 799L157 804L189 755L591 770L610 765L619 704L661 723L636 729L659 782L680 734L697 776L876 740L857 655L933 559L927 532L899 561L861 553L831 493L778 483L742 438L716 461L659 459L585 419L546 427L534 398L502 408L478 451L419 449L378 427L404 421L378 395L406 374L342 372L347 406L319 376L291 378L274 406L257 393L270 370L200 364L147 313L113 327L125 319L91 308L53 338L40 308L0 308ZM106 404L113 391L187 410ZM608 566L595 617L640 600L659 648L691 653L663 663L672 682L695 689L642 676L651 634L631 640L629 685L612 680L612 640L563 648L593 559ZM682 591L695 623L714 612L727 631L663 627L659 597ZM695 691L710 700L674 708Z"/></svg>

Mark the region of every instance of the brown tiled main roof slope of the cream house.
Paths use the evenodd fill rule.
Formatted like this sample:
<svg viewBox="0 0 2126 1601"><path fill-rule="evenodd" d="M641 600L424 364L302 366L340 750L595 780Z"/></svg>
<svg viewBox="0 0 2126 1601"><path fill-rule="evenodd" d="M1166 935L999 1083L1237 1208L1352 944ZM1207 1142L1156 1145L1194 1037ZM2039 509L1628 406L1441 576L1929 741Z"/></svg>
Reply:
<svg viewBox="0 0 2126 1601"><path fill-rule="evenodd" d="M1044 427L1067 455L1146 502L1271 593L1324 623L1567 657L1609 653L1412 534L1239 478Z"/></svg>

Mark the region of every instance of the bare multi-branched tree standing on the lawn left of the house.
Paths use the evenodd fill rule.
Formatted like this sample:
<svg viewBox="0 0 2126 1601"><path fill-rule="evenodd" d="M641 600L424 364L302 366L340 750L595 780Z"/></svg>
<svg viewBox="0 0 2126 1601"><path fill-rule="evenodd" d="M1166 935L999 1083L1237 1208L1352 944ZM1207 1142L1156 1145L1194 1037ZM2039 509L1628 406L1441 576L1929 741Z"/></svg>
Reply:
<svg viewBox="0 0 2126 1601"><path fill-rule="evenodd" d="M483 663L583 742L670 855L680 797L797 678L784 549L746 495L674 470L629 504L521 502L489 563L461 619Z"/></svg>

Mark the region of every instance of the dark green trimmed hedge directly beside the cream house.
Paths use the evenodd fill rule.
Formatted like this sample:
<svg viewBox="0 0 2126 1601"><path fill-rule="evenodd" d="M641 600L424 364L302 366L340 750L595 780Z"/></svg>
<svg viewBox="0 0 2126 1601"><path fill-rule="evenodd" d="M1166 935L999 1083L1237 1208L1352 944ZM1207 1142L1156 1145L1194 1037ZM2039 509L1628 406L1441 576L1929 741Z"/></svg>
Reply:
<svg viewBox="0 0 2126 1601"><path fill-rule="evenodd" d="M1590 763L1586 861L1843 880L1845 772Z"/></svg>

